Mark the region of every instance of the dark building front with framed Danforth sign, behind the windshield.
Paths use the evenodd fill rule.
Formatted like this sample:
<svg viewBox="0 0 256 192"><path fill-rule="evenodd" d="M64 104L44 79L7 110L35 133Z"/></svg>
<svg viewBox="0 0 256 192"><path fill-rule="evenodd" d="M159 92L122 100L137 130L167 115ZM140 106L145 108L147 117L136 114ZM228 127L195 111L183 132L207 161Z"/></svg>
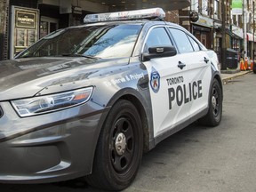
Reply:
<svg viewBox="0 0 256 192"><path fill-rule="evenodd" d="M83 24L92 12L115 12L151 7L177 10L190 0L3 0L0 2L0 60L15 54L58 28Z"/></svg>

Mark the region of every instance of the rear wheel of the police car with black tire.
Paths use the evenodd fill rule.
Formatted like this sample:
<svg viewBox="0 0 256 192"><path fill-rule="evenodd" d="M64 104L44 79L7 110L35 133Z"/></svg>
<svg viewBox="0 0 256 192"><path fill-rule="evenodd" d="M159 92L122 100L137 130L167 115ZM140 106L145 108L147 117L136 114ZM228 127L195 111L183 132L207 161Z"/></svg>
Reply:
<svg viewBox="0 0 256 192"><path fill-rule="evenodd" d="M217 126L220 124L222 116L222 100L220 83L217 79L214 79L209 98L209 110L206 116L199 119L200 124L207 126Z"/></svg>

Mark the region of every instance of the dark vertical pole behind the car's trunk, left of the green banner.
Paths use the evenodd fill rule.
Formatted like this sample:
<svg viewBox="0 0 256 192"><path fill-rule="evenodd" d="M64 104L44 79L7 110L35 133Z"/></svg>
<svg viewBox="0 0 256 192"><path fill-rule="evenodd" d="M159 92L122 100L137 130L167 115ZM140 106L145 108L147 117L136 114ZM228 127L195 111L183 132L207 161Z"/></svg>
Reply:
<svg viewBox="0 0 256 192"><path fill-rule="evenodd" d="M222 40L221 40L221 70L227 69L227 63L226 63L226 1L221 0L221 17L222 17L222 26L221 26L221 34L222 34Z"/></svg>

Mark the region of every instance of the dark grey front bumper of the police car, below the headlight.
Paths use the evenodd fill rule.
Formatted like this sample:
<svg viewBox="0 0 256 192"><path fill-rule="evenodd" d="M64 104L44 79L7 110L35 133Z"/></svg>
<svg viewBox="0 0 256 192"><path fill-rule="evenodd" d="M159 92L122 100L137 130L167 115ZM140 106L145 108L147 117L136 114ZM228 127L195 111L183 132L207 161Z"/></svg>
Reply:
<svg viewBox="0 0 256 192"><path fill-rule="evenodd" d="M9 102L0 106L0 182L53 182L92 172L99 121L106 109L89 101L20 118Z"/></svg>

